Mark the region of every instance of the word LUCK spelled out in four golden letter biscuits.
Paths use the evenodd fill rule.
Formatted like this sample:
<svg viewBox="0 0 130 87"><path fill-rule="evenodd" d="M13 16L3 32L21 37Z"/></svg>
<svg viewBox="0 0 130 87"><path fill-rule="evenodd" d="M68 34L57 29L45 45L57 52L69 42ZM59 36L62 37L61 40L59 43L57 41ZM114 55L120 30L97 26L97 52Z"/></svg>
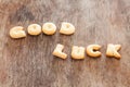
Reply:
<svg viewBox="0 0 130 87"><path fill-rule="evenodd" d="M121 55L118 53L120 48L121 48L120 45L108 44L107 49L106 49L106 55L110 58L120 59ZM52 54L61 59L66 59L67 54L63 52L63 49L64 49L64 46L61 44L57 44ZM87 52L89 57L98 58L98 57L101 57L102 54L100 52L100 49L101 49L100 45L89 45L87 48L73 46L72 58L73 59L84 59L84 52Z"/></svg>

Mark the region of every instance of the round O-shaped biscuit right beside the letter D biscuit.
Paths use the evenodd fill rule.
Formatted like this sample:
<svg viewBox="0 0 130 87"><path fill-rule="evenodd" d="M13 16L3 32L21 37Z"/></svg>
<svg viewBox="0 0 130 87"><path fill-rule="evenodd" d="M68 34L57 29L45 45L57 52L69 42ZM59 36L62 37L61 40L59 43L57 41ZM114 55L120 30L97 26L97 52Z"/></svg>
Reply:
<svg viewBox="0 0 130 87"><path fill-rule="evenodd" d="M42 26L42 32L46 35L53 35L56 32L56 26L53 23L44 23Z"/></svg>

